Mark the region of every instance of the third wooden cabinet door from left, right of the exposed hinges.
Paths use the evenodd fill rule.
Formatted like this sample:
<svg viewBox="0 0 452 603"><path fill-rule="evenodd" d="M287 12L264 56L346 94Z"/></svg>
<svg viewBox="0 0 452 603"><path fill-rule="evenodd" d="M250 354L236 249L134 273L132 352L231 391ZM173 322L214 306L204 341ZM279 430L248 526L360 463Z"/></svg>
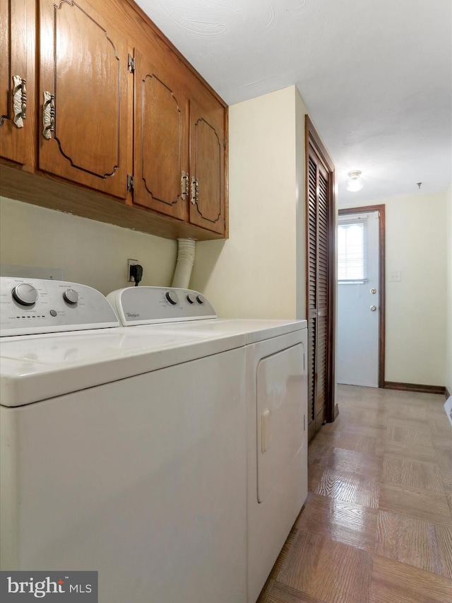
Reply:
<svg viewBox="0 0 452 603"><path fill-rule="evenodd" d="M189 199L187 100L174 78L135 55L133 202L186 221Z"/></svg>

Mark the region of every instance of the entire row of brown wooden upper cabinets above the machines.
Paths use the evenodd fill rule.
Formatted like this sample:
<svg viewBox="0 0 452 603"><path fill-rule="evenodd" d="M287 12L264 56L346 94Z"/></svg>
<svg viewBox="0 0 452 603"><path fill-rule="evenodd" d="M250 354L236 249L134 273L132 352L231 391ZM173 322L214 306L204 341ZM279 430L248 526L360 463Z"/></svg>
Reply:
<svg viewBox="0 0 452 603"><path fill-rule="evenodd" d="M0 0L0 34L1 194L168 238L228 235L227 107L141 9Z"/></svg>

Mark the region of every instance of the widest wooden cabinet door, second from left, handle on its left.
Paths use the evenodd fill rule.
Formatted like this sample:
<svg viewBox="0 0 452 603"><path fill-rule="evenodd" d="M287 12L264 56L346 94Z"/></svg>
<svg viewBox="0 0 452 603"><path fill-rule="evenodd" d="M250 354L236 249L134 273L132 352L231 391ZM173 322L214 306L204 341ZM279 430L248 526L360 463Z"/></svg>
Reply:
<svg viewBox="0 0 452 603"><path fill-rule="evenodd" d="M84 0L40 11L39 168L125 198L126 40Z"/></svg>

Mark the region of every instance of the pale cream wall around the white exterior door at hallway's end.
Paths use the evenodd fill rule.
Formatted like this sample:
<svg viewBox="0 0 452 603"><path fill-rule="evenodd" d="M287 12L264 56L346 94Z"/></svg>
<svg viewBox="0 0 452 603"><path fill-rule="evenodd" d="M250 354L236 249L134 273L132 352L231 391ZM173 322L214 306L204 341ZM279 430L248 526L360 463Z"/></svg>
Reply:
<svg viewBox="0 0 452 603"><path fill-rule="evenodd" d="M386 206L386 381L445 385L446 194L342 207ZM400 282L389 273L400 271Z"/></svg>

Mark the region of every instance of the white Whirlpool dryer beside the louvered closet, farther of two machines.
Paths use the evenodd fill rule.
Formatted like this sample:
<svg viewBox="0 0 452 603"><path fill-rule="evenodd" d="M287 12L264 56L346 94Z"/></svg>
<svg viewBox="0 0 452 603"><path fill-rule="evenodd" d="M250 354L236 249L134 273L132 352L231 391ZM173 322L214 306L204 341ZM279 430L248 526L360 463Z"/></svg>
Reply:
<svg viewBox="0 0 452 603"><path fill-rule="evenodd" d="M307 498L307 322L218 319L203 295L184 289L133 287L107 298L134 329L244 336L246 600L255 603Z"/></svg>

